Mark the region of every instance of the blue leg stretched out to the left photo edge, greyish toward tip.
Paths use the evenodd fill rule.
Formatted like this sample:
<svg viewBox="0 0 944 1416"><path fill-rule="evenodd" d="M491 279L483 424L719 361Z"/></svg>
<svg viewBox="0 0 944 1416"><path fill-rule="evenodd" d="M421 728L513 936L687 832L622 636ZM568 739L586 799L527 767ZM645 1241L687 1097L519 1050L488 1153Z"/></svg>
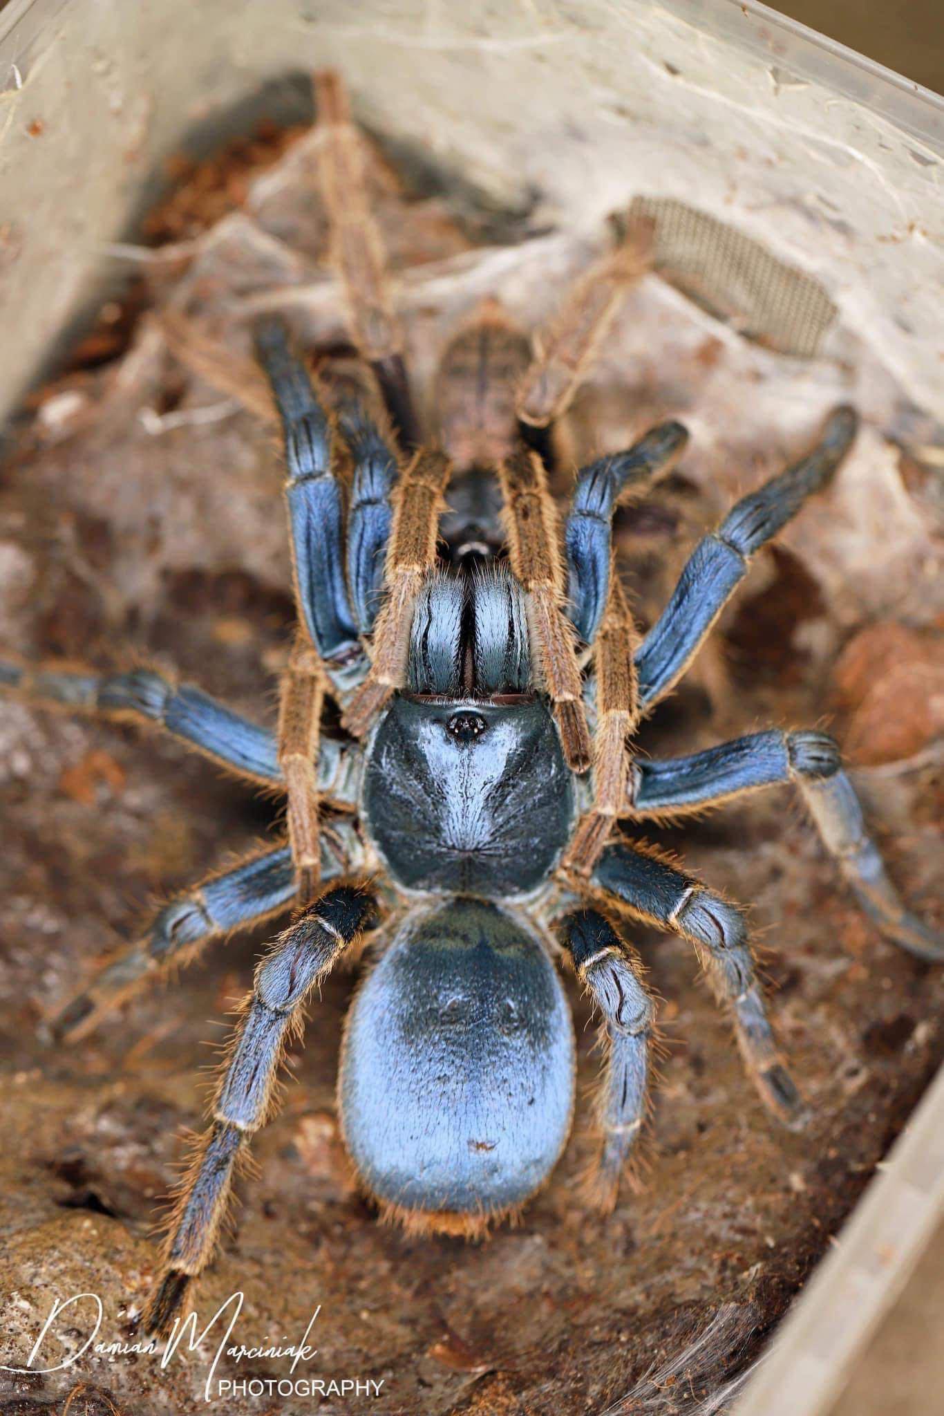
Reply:
<svg viewBox="0 0 944 1416"><path fill-rule="evenodd" d="M64 661L0 660L0 687L40 708L62 708L119 722L163 728L221 767L265 786L282 780L276 739L192 684L173 684L151 668L96 674Z"/></svg>

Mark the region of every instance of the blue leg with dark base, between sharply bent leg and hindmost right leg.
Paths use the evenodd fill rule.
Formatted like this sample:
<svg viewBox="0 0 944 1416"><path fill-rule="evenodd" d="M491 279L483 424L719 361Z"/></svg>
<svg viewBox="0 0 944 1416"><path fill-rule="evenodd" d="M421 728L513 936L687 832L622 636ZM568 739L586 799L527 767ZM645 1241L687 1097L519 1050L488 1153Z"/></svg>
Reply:
<svg viewBox="0 0 944 1416"><path fill-rule="evenodd" d="M695 946L715 995L733 1014L735 1037L763 1102L784 1124L801 1126L802 1103L780 1061L743 912L638 845L607 847L590 879L631 915L671 929Z"/></svg>

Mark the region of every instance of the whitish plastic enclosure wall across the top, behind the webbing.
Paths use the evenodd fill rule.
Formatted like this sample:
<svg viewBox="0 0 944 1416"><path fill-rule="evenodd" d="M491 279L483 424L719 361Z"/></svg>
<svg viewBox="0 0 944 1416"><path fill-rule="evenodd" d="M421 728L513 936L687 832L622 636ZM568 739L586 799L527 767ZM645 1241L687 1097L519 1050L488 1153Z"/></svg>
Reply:
<svg viewBox="0 0 944 1416"><path fill-rule="evenodd" d="M174 13L178 20L171 23ZM13 0L0 14L0 411L126 266L108 244L161 161L304 116L340 67L358 115L500 210L593 228L678 197L819 276L836 353L941 406L940 101L732 0ZM936 137L937 135L937 137ZM852 343L849 343L852 341ZM940 416L940 412L938 412Z"/></svg>

